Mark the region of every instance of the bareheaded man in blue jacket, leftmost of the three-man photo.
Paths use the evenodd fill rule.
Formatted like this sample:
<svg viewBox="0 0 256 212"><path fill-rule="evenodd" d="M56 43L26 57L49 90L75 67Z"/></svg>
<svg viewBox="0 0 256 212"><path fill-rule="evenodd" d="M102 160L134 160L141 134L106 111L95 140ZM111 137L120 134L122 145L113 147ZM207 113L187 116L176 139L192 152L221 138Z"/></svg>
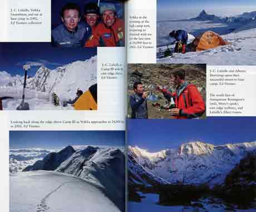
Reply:
<svg viewBox="0 0 256 212"><path fill-rule="evenodd" d="M61 10L62 24L52 30L52 44L55 47L82 47L91 34L90 27L80 23L80 7L67 3Z"/></svg>

